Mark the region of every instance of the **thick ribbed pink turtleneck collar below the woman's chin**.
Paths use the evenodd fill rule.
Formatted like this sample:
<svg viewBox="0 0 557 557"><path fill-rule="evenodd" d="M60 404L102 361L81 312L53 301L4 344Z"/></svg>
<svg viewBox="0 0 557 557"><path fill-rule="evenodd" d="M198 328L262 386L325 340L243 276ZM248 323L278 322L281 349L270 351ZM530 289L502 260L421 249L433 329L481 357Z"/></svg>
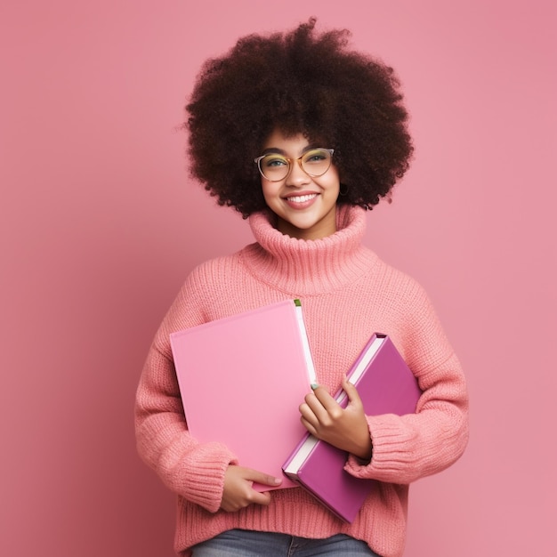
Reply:
<svg viewBox="0 0 557 557"><path fill-rule="evenodd" d="M289 295L319 295L361 278L376 256L362 239L366 211L339 206L335 234L316 240L291 238L279 232L269 212L249 217L256 244L242 251L243 261L255 277Z"/></svg>

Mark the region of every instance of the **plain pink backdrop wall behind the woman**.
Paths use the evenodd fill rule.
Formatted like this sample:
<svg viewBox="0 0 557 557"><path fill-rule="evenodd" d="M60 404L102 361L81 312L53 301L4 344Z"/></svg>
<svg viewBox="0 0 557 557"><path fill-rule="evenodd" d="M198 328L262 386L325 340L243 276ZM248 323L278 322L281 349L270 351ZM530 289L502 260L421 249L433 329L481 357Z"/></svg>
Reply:
<svg viewBox="0 0 557 557"><path fill-rule="evenodd" d="M251 241L176 126L206 57L315 14L402 79L416 160L367 244L424 284L469 379L469 448L411 489L406 555L553 556L555 5L3 2L0 553L173 554L135 386L185 275Z"/></svg>

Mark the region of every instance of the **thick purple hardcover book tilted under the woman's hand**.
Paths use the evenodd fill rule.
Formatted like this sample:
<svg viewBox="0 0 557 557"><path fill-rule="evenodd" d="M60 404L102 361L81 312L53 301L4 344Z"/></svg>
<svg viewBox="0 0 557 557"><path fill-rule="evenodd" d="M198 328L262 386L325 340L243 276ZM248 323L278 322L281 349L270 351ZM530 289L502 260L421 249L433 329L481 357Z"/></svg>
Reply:
<svg viewBox="0 0 557 557"><path fill-rule="evenodd" d="M387 335L376 333L347 373L358 388L367 416L412 414L421 392L416 377ZM348 397L337 392L345 408ZM305 433L283 465L288 478L298 482L343 521L352 522L375 480L355 478L344 471L345 451Z"/></svg>

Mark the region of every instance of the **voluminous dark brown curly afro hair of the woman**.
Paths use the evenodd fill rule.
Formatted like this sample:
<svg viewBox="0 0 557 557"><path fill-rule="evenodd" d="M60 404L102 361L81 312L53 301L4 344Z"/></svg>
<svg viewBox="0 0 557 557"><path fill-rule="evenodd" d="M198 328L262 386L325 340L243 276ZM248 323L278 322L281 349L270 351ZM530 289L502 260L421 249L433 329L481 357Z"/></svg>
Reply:
<svg viewBox="0 0 557 557"><path fill-rule="evenodd" d="M191 174L246 218L265 208L254 157L275 129L335 149L339 203L371 209L389 196L413 152L392 68L347 49L350 31L240 38L206 61L186 106Z"/></svg>

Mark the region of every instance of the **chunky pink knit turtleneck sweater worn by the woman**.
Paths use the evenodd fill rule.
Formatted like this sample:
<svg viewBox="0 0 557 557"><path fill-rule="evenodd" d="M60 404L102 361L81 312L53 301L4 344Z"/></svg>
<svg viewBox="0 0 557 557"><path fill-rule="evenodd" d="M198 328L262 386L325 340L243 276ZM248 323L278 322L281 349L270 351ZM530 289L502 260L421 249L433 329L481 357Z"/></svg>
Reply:
<svg viewBox="0 0 557 557"><path fill-rule="evenodd" d="M424 290L362 246L365 211L343 207L337 221L333 236L306 241L275 230L267 214L252 215L257 242L193 270L157 332L137 391L137 447L177 494L175 549L184 556L191 545L237 528L300 537L344 533L383 557L398 557L406 537L408 484L440 472L464 451L464 376ZM184 420L169 334L295 297L303 302L319 383L330 392L375 331L391 336L424 391L416 415L368 416L372 460L363 466L349 458L346 469L382 483L352 524L336 519L302 488L273 491L268 507L219 511L224 472L238 462L221 443L199 444ZM272 392L262 390L262 396Z"/></svg>

